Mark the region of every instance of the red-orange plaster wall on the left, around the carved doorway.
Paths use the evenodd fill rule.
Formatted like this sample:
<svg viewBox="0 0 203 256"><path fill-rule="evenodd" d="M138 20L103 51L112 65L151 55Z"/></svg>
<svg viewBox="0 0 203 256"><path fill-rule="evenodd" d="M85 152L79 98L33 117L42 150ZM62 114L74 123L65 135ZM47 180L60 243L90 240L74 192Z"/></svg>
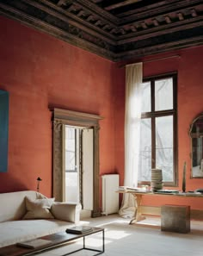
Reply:
<svg viewBox="0 0 203 256"><path fill-rule="evenodd" d="M0 17L0 89L9 91L9 170L0 192L52 196L49 106L101 115L101 173L114 172L114 63Z"/></svg>

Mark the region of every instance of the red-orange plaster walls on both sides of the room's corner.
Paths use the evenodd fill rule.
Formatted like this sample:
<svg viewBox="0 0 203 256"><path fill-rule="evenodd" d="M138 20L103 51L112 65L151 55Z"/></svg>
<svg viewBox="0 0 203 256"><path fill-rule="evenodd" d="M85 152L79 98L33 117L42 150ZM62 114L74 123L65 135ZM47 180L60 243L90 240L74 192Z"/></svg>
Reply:
<svg viewBox="0 0 203 256"><path fill-rule="evenodd" d="M104 116L100 130L100 169L124 179L125 68L0 17L0 89L9 91L9 170L0 173L0 192L36 190L52 196L52 114L49 106ZM189 125L203 111L203 47L149 56L144 76L178 72L178 169L188 165L187 190L203 187L190 178ZM137 62L140 59L133 59ZM130 62L130 61L128 61ZM157 198L158 197L158 198ZM190 204L200 198L145 196L145 205Z"/></svg>

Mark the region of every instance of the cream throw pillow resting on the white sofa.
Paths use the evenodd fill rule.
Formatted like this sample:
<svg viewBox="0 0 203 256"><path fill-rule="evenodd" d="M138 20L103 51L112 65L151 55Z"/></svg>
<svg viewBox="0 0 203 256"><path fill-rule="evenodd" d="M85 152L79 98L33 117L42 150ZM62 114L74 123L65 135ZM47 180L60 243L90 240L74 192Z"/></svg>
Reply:
<svg viewBox="0 0 203 256"><path fill-rule="evenodd" d="M53 215L50 212L52 203L55 198L43 198L31 200L26 197L26 209L28 212L22 219L53 219Z"/></svg>

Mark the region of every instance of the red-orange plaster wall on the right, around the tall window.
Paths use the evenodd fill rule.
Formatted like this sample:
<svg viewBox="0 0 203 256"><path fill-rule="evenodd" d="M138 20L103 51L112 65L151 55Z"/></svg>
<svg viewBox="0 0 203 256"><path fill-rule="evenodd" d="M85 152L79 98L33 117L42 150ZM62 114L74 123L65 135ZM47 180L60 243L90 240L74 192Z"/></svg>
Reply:
<svg viewBox="0 0 203 256"><path fill-rule="evenodd" d="M175 55L180 55L180 57L175 57ZM173 57L174 56L174 57ZM157 56L149 56L143 59L159 59L165 57L172 57L169 59L160 59L152 62L144 63L144 77L168 73L177 72L178 73L178 178L179 184L177 189L181 190L181 180L182 180L182 170L184 161L187 162L187 190L195 190L196 188L203 188L202 178L190 178L190 138L188 136L188 130L194 117L203 112L202 96L203 96L203 47L188 48L185 50L180 50L176 52L171 52L167 54L159 54ZM138 62L140 59L133 60L133 62ZM120 64L120 66L123 65ZM119 65L118 65L119 66ZM118 84L120 84L120 78L125 83L125 69L118 69ZM119 85L122 88L122 85ZM125 85L123 85L125 87ZM117 93L117 103L116 106L122 109L124 106L125 91L120 89ZM116 127L119 127L119 123L124 122L124 113L115 114ZM123 152L123 138L124 133L123 126L116 130L116 147L115 147L115 165L117 161L119 162L118 172L120 172L120 179L123 180L123 168L124 168L124 158L121 157ZM122 183L121 183L122 184ZM202 198L180 198L180 197L164 197L164 196L145 196L143 199L144 205L160 206L165 203L175 203L175 204L189 204L192 209L203 209Z"/></svg>

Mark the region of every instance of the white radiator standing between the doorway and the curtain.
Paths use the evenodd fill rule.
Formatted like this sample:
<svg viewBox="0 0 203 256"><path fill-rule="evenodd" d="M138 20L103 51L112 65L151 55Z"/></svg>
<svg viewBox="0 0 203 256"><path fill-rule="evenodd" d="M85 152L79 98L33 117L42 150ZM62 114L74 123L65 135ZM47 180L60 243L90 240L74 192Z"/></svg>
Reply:
<svg viewBox="0 0 203 256"><path fill-rule="evenodd" d="M119 211L119 174L102 176L102 214L108 215Z"/></svg>

